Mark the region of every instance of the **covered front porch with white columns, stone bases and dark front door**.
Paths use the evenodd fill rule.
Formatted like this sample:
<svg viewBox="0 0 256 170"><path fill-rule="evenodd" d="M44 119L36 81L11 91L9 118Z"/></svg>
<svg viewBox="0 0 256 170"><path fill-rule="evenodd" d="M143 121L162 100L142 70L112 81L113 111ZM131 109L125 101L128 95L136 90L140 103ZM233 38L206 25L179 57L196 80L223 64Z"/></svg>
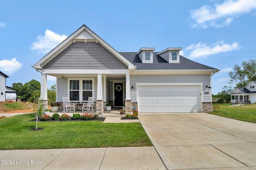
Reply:
<svg viewBox="0 0 256 170"><path fill-rule="evenodd" d="M44 109L48 107L47 75L50 75L56 77L56 102L62 103L63 96L69 97L70 102L75 103L76 108L79 108L82 103L88 102L88 97L92 96L96 114L107 113L108 103L112 108L117 108L118 113L123 105L126 114L132 113L130 97L132 85L129 70L76 70L74 73L66 73L64 70L55 70L54 73L48 71L43 70L41 74L41 97L44 101Z"/></svg>

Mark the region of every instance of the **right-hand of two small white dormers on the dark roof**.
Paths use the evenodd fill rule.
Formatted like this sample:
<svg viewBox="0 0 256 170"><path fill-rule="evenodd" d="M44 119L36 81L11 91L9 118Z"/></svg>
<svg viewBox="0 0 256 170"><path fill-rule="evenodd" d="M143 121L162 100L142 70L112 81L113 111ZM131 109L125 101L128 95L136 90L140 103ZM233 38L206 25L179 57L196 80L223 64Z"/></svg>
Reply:
<svg viewBox="0 0 256 170"><path fill-rule="evenodd" d="M180 50L182 50L182 48L166 48L156 55L159 55L168 63L180 63Z"/></svg>

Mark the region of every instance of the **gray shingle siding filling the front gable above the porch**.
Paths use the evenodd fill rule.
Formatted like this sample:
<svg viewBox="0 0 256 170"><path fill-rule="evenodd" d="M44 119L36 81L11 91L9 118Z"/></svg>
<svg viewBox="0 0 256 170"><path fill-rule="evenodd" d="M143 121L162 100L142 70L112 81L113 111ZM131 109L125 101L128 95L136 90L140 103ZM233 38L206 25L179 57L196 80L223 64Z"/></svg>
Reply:
<svg viewBox="0 0 256 170"><path fill-rule="evenodd" d="M96 42L75 42L48 62L44 69L128 69Z"/></svg>

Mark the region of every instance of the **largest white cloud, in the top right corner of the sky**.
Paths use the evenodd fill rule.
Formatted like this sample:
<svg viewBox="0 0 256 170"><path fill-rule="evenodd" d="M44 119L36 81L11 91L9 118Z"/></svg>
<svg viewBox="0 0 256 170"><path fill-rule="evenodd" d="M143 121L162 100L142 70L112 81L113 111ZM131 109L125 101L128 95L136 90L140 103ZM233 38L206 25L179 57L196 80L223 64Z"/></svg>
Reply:
<svg viewBox="0 0 256 170"><path fill-rule="evenodd" d="M222 4L214 4L214 8L204 5L197 10L190 11L190 18L195 23L191 26L207 28L209 26L221 28L228 26L234 17L256 10L256 0L226 0Z"/></svg>

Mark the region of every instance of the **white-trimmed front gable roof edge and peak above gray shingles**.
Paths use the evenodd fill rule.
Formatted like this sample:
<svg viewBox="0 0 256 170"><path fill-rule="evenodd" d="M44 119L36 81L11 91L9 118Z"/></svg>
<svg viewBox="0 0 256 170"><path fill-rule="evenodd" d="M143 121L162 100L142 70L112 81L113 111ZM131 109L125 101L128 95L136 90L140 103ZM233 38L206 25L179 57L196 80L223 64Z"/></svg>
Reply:
<svg viewBox="0 0 256 170"><path fill-rule="evenodd" d="M126 64L129 69L134 69L134 65L130 61L124 58L124 56L122 56L114 48L112 48L112 46L102 40L102 38L100 38L92 30L90 30L86 25L82 25L78 30L76 30L73 34L66 38L66 40L64 40L62 43L56 46L56 48L46 54L46 56L44 56L41 60L34 64L33 68L42 70L44 65L46 65L58 54L60 54L60 52L66 49L70 44L76 41L83 41L85 43L87 41L93 41L100 43L102 46L104 46L104 48L106 48L109 52L111 52L114 56L116 56L119 60Z"/></svg>

